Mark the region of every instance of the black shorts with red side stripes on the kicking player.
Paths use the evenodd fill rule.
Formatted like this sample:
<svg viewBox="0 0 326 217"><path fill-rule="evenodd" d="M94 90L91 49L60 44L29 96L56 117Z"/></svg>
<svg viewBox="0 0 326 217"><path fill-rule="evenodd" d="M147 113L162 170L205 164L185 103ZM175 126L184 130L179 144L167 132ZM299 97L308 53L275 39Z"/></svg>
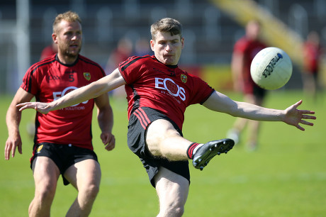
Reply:
<svg viewBox="0 0 326 217"><path fill-rule="evenodd" d="M190 183L190 172L189 172L189 162L184 161L169 161L164 157L153 156L145 145L146 141L146 130L147 126L153 121L158 119L164 119L170 121L174 128L182 136L182 132L176 123L170 118L160 113L157 110L150 109L148 107L142 107L136 109L129 118L128 124L128 147L132 150L135 155L137 155L144 165L148 177L150 178L150 183L153 187L154 176L159 172L159 167L164 167L170 171L181 175L182 177L188 179Z"/></svg>

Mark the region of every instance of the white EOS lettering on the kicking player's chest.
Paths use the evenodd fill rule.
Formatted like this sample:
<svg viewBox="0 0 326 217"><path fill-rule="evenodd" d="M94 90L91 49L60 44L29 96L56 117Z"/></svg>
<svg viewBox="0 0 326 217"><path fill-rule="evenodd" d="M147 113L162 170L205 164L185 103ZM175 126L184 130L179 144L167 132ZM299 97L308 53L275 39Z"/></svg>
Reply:
<svg viewBox="0 0 326 217"><path fill-rule="evenodd" d="M172 79L162 79L156 77L155 88L167 90L172 96L179 96L182 101L186 100L186 91L183 87L180 87L178 84L174 83Z"/></svg>

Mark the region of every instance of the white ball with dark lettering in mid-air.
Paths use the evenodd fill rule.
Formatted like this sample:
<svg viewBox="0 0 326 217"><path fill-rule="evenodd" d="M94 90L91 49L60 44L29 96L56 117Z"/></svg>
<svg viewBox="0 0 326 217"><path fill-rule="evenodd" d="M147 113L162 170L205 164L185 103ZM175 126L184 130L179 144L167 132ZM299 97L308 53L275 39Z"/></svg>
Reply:
<svg viewBox="0 0 326 217"><path fill-rule="evenodd" d="M292 62L280 48L264 48L252 60L250 74L259 87L279 89L291 78Z"/></svg>

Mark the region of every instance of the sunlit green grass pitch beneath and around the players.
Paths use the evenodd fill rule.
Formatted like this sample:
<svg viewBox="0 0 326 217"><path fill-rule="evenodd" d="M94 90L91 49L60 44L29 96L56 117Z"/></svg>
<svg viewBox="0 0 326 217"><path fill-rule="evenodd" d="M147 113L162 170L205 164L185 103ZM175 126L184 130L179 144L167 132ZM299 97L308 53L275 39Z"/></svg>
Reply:
<svg viewBox="0 0 326 217"><path fill-rule="evenodd" d="M231 94L234 99L240 96ZM266 106L285 109L303 98L300 91L275 91ZM1 143L7 138L6 109L11 97L1 96ZM94 121L94 147L102 168L99 196L91 216L155 216L156 192L145 169L126 145L125 101L112 99L116 149L106 152ZM326 213L326 113L325 101L304 101L300 109L313 109L314 127L302 132L285 123L263 123L256 152L246 152L240 143L227 155L214 158L199 171L191 167L191 187L184 216L325 216ZM21 124L23 155L0 160L0 216L28 216L33 199L33 177L29 168L32 140L26 123L34 111L24 111ZM186 111L184 136L198 143L224 138L235 118L214 113L203 106ZM245 139L245 135L243 136ZM2 149L3 150L3 149ZM2 155L4 156L4 155ZM64 216L76 191L57 187L52 216Z"/></svg>

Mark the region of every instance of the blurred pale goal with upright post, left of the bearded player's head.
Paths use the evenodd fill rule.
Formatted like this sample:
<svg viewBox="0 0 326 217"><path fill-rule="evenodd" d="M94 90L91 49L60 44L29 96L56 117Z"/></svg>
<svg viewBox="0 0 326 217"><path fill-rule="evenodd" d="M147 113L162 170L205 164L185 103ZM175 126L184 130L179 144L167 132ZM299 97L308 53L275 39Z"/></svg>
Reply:
<svg viewBox="0 0 326 217"><path fill-rule="evenodd" d="M0 94L14 94L30 67L30 0L16 0L16 19L0 12Z"/></svg>

